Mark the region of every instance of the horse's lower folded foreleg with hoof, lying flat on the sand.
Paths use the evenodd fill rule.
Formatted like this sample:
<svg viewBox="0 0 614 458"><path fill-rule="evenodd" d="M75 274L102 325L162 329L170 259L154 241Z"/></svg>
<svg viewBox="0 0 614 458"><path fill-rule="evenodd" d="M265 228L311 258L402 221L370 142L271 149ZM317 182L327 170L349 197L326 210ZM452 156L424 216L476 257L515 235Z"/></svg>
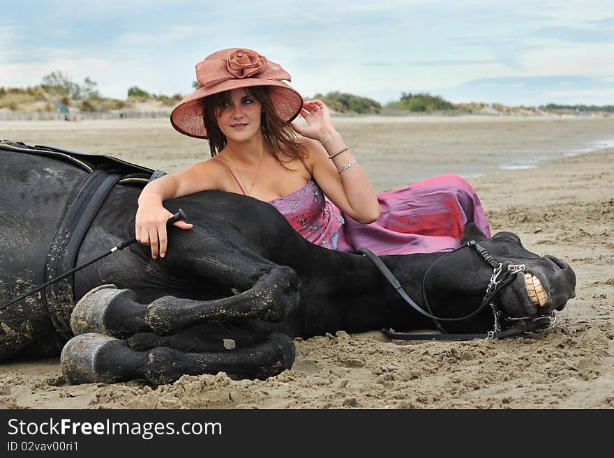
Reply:
<svg viewBox="0 0 614 458"><path fill-rule="evenodd" d="M245 349L185 353L165 346L135 351L124 340L87 333L68 341L61 353L61 367L70 384L117 383L144 379L153 385L172 383L182 375L226 372L250 379L266 379L290 369L294 342L271 333Z"/></svg>

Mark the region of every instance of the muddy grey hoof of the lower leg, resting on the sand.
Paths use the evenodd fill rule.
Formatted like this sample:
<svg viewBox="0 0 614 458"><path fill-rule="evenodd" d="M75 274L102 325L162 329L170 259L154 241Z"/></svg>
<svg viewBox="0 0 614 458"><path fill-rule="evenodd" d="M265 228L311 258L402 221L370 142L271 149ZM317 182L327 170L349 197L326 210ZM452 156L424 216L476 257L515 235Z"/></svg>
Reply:
<svg viewBox="0 0 614 458"><path fill-rule="evenodd" d="M64 379L70 385L121 381L110 372L96 368L96 360L101 352L114 353L114 349L119 346L124 346L121 340L107 335L87 333L73 337L66 342L60 356Z"/></svg>

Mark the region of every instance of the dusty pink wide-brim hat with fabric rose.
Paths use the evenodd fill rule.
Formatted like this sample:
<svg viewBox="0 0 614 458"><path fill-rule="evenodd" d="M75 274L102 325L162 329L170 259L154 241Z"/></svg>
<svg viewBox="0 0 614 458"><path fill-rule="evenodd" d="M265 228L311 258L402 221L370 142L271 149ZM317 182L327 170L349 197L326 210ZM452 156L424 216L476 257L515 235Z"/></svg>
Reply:
<svg viewBox="0 0 614 458"><path fill-rule="evenodd" d="M296 118L303 107L301 94L282 81L290 81L290 74L278 63L251 49L230 48L214 52L196 64L196 79L196 91L181 100L170 114L172 126L190 137L207 138L200 99L212 94L243 87L268 86L271 102L277 114L286 122Z"/></svg>

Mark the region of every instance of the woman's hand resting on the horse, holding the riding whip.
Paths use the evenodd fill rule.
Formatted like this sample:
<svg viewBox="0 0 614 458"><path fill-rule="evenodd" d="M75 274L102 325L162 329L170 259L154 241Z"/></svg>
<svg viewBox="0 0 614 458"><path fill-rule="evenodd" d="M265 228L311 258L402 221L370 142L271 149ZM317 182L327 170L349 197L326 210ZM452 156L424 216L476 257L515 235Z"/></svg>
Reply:
<svg viewBox="0 0 614 458"><path fill-rule="evenodd" d="M139 201L135 221L135 238L138 243L151 247L153 259L156 259L158 254L161 258L166 255L166 222L172 215L160 202ZM173 226L179 229L192 229L192 224L185 221L174 222Z"/></svg>

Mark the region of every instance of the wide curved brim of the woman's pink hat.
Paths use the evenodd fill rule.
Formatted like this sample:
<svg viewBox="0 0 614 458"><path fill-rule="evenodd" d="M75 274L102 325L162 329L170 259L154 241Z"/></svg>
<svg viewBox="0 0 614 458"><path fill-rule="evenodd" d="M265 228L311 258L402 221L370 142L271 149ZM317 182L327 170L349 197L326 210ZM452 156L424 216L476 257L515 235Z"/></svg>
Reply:
<svg viewBox="0 0 614 458"><path fill-rule="evenodd" d="M200 88L181 100L170 114L170 123L184 135L207 139L207 130L202 121L202 102L200 99L220 92L242 87L269 86L269 97L276 112L286 122L299 116L303 107L301 94L284 82L276 79L229 79L209 88Z"/></svg>

